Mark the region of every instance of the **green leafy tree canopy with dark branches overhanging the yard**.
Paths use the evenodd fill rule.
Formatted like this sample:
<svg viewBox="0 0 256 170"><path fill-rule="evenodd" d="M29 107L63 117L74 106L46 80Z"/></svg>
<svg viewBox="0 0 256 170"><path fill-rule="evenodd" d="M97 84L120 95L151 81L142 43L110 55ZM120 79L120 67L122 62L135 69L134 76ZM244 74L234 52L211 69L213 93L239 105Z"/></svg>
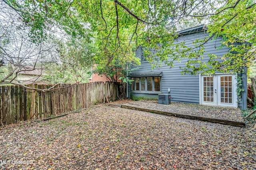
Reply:
<svg viewBox="0 0 256 170"><path fill-rule="evenodd" d="M140 64L135 57L139 46L145 48L144 56L153 68L172 67L174 61L188 58L181 68L184 74L241 72L238 69L255 58L254 0L3 0L3 4L30 28L35 42L46 41L51 33L65 33L93 43L93 63L100 74L121 72L127 63ZM206 24L209 32L193 48L174 43L176 32L188 21ZM222 45L230 47L229 53L208 54L207 62L198 59L205 53L204 44L219 36Z"/></svg>

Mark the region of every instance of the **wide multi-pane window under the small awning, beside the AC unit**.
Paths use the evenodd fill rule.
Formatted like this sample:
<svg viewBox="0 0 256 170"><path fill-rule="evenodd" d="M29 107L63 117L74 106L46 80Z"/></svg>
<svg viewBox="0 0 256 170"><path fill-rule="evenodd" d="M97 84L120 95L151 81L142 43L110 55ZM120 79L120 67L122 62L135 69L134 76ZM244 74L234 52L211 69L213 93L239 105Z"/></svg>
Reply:
<svg viewBox="0 0 256 170"><path fill-rule="evenodd" d="M132 90L144 92L160 92L161 77L133 77Z"/></svg>

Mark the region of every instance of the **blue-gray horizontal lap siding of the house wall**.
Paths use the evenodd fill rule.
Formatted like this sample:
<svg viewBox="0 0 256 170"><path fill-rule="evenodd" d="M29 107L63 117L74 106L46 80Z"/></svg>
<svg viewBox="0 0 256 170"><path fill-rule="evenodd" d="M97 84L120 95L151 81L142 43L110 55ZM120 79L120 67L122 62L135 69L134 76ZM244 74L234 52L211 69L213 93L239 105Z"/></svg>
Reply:
<svg viewBox="0 0 256 170"><path fill-rule="evenodd" d="M177 38L176 42L186 42L188 47L193 47L192 41L195 39L202 39L209 34L201 31L198 33L192 33L183 35ZM222 47L222 49L217 49L221 45L222 38L218 37L217 39L208 41L204 47L207 53L214 53L218 56L223 56L225 53L229 51L227 47ZM140 57L141 55L141 48L136 51L136 55ZM209 57L207 54L204 54L203 61L208 61ZM148 61L142 61L141 65L138 66L137 70L132 71L132 73L145 73L145 72L159 72L162 71L162 94L168 94L168 88L170 88L170 94L172 97L172 101L174 102L187 102L187 103L194 103L200 104L200 84L199 84L199 75L192 76L192 75L182 75L180 72L180 67L186 66L187 59L182 59L180 62L174 62L174 67L170 68L170 66L162 65L160 69L155 68L151 69L150 63ZM244 77L244 87L247 86L246 77ZM245 88L246 89L246 88ZM128 88L128 97L133 98L134 96L139 96L135 91L131 91L131 85ZM244 92L243 96L246 92ZM140 93L140 96L143 94ZM149 94L145 94L145 97ZM157 95L157 94L155 94ZM246 107L246 97L245 99L242 98L242 102L240 102L240 107L244 109Z"/></svg>

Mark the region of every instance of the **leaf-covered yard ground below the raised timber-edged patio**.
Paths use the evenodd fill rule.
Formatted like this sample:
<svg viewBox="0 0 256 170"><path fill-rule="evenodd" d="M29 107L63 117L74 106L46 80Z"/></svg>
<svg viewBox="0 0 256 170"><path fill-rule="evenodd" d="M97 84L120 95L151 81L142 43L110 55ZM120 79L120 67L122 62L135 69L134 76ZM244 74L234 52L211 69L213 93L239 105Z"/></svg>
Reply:
<svg viewBox="0 0 256 170"><path fill-rule="evenodd" d="M0 127L0 169L254 170L255 132L98 105Z"/></svg>

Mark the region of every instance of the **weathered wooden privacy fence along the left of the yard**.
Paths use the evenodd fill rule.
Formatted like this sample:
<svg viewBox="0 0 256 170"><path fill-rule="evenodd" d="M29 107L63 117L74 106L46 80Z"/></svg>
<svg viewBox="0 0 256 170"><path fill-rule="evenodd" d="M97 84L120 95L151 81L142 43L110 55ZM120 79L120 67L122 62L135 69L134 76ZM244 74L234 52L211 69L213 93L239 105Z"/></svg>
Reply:
<svg viewBox="0 0 256 170"><path fill-rule="evenodd" d="M48 89L53 85L31 84L28 87ZM120 85L112 82L58 84L47 92L21 86L0 86L0 125L115 101L120 95Z"/></svg>

